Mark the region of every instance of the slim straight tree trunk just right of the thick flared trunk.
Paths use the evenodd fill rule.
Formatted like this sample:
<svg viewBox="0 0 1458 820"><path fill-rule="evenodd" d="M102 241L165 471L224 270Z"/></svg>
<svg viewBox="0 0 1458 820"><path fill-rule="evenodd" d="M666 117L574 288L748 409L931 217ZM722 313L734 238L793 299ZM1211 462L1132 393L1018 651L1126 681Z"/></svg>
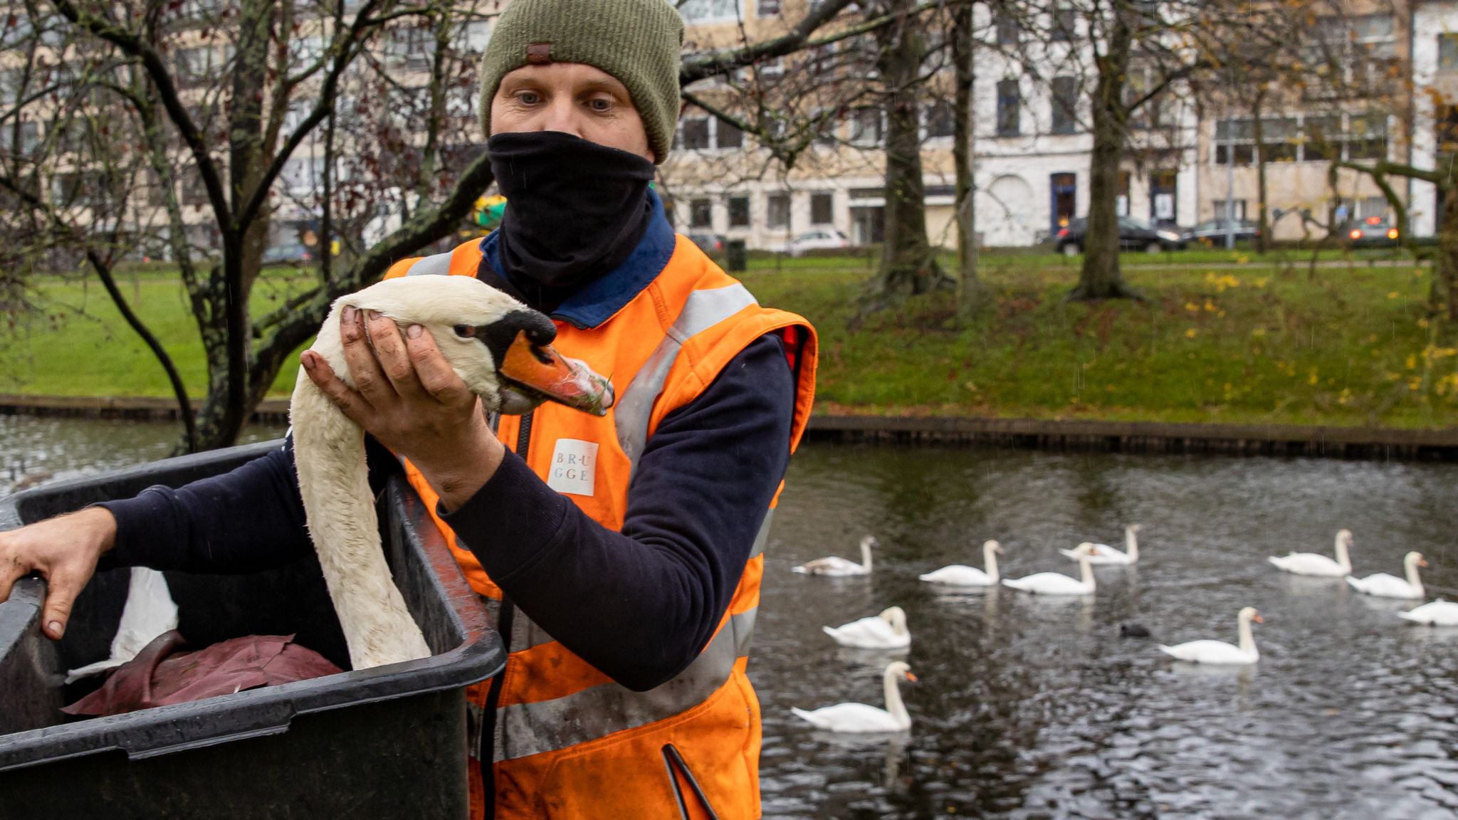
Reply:
<svg viewBox="0 0 1458 820"><path fill-rule="evenodd" d="M952 162L956 166L956 315L971 317L981 302L983 283L977 279L977 206L974 201L974 162L977 137L972 133L974 48L972 4L952 15L952 63L956 71L956 98L952 105Z"/></svg>

